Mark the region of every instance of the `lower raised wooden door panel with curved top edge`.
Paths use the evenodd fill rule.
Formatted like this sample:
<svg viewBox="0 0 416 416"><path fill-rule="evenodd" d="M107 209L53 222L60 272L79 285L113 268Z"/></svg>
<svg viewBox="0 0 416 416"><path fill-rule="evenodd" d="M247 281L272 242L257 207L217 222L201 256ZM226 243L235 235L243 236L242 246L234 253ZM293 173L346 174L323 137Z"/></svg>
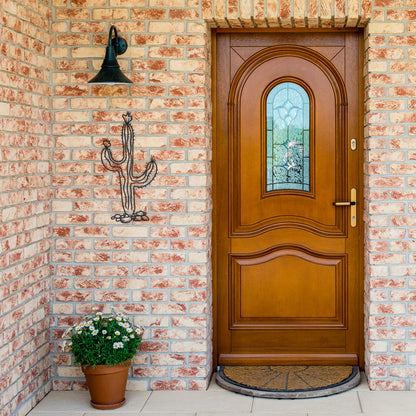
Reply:
<svg viewBox="0 0 416 416"><path fill-rule="evenodd" d="M251 259L233 258L232 326L310 322L342 324L342 259L280 250ZM313 279L305 276L308 269ZM275 273L278 270L279 273ZM286 276L292 276L290 281ZM259 276L262 276L259 279ZM337 291L338 289L338 291ZM308 293L305 299L304 292Z"/></svg>

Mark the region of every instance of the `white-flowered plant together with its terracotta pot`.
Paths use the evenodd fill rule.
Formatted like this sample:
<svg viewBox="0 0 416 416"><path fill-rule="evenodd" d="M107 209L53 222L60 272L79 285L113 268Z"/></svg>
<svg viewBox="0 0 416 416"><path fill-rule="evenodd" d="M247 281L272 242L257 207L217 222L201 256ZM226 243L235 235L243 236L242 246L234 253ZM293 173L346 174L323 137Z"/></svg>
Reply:
<svg viewBox="0 0 416 416"><path fill-rule="evenodd" d="M81 364L96 409L116 409L124 404L131 359L140 347L143 328L112 310L86 315L65 331L64 349Z"/></svg>

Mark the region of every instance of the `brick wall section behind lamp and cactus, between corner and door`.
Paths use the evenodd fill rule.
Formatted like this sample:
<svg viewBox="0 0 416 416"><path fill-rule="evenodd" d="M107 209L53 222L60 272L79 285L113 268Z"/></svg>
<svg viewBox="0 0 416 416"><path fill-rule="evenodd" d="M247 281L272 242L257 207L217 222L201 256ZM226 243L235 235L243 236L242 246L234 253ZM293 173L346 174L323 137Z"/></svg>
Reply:
<svg viewBox="0 0 416 416"><path fill-rule="evenodd" d="M134 317L146 332L131 389L203 389L211 362L209 33L196 0L54 1L53 283L55 389L85 388L63 329L92 306ZM110 25L128 42L129 86L86 82ZM132 113L135 169L159 173L136 191L149 222L121 224L118 178L103 168Z"/></svg>

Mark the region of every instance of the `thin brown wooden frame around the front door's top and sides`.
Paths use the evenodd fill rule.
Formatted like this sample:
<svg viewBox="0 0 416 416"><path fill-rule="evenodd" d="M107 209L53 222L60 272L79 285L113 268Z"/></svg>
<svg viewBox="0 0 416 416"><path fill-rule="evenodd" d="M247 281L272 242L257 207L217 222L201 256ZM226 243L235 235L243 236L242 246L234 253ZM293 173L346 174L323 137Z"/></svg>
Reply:
<svg viewBox="0 0 416 416"><path fill-rule="evenodd" d="M212 209L212 290L213 290L213 301L212 301L212 319L213 319L213 371L217 368L217 359L218 359L218 320L217 320L217 300L218 300L218 270L217 270L217 229L219 227L221 218L218 218L217 215L217 181L220 180L217 174L216 166L216 140L217 140L217 80L216 80L216 69L217 69L217 34L224 33L300 33L308 32L311 33L333 33L333 32L359 32L360 33L360 56L359 56L359 97L360 97L360 108L359 108L359 119L360 119L360 128L359 128L359 137L357 137L357 151L359 152L359 192L358 192L358 217L361 218L359 222L360 232L359 232L359 245L360 249L360 258L358 259L360 264L361 276L360 276L360 345L359 345L359 365L360 368L364 368L364 355L365 355L365 343L364 343L364 80L363 80L363 67L364 67L364 45L363 45L363 31L357 29L342 29L342 30L333 30L333 29L212 29L211 30L211 39L212 39L212 49L211 49L211 58L212 58L212 200L213 200L213 209Z"/></svg>

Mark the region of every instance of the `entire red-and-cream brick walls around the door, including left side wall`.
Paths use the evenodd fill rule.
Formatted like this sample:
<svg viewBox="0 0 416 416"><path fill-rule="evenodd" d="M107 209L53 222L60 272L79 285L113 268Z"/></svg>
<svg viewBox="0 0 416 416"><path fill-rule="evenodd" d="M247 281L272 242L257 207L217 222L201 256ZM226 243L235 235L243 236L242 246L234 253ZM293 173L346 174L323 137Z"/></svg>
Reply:
<svg viewBox="0 0 416 416"><path fill-rule="evenodd" d="M211 51L204 19L211 27L363 28L366 371L373 389L415 390L415 0L48 5L0 5L0 409L23 414L49 388L50 264L54 389L85 388L60 336L93 306L115 306L146 326L129 388L206 387ZM111 24L128 41L119 63L134 85L87 84ZM100 152L104 139L119 145L127 110L136 172L153 155L159 174L137 191L150 221L121 225L111 220L121 211L117 178Z"/></svg>

